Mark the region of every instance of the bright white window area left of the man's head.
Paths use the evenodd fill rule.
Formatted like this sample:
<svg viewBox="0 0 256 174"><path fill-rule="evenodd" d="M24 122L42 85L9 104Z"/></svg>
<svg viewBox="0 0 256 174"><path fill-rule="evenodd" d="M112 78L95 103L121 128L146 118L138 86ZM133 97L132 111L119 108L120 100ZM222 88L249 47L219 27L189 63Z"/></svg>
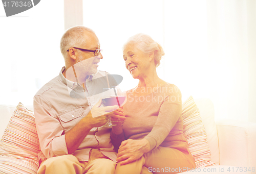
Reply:
<svg viewBox="0 0 256 174"><path fill-rule="evenodd" d="M65 65L59 49L63 31L62 1L40 1L10 17L0 5L0 104L33 104L38 89Z"/></svg>

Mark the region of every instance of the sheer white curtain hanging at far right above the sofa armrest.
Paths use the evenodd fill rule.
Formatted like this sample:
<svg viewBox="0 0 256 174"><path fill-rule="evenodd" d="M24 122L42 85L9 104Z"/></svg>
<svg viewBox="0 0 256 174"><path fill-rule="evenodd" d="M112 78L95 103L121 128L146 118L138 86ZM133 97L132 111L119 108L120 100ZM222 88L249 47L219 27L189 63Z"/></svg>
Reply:
<svg viewBox="0 0 256 174"><path fill-rule="evenodd" d="M207 1L206 83L218 118L256 122L255 11L256 1Z"/></svg>

